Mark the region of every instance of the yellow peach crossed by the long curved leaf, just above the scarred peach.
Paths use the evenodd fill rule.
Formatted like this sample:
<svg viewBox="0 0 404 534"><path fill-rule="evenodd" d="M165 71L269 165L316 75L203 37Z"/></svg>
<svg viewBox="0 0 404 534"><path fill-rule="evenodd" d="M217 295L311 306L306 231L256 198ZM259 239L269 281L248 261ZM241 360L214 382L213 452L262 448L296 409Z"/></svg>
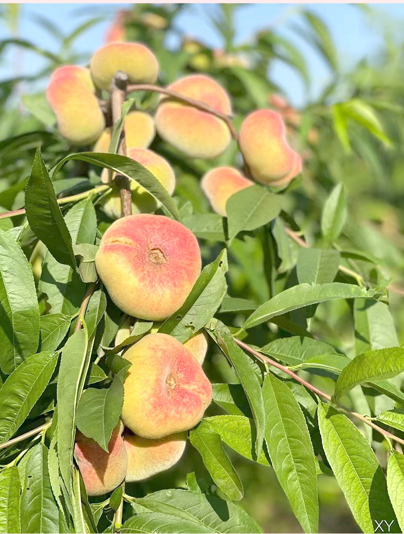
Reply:
<svg viewBox="0 0 404 534"><path fill-rule="evenodd" d="M146 167L172 195L176 186L176 177L166 159L146 148L130 148L128 156ZM131 180L130 189L132 192L132 213L151 213L160 207L160 203L137 182ZM112 192L101 201L101 209L112 219L121 216L121 197L116 185L113 185Z"/></svg>

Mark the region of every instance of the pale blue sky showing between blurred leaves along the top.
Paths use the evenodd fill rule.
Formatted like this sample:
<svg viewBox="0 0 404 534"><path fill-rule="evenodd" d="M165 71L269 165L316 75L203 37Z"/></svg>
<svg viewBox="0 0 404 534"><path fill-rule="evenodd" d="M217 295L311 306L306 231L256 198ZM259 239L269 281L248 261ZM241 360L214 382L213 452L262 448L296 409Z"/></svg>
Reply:
<svg viewBox="0 0 404 534"><path fill-rule="evenodd" d="M36 17L47 18L56 25L60 33L67 35L89 17L107 15L108 20L91 27L76 41L76 48L90 56L92 51L102 45L105 30L114 13L125 5L127 4L22 4L20 36L43 49L57 52L57 40L38 26ZM281 35L290 38L305 54L313 80L311 96L315 98L330 80L330 72L318 54L293 29L296 23L301 24L300 10L310 9L326 22L340 64L343 70L348 70L360 59L376 53L382 43L383 30L387 30L391 36L404 35L404 4L371 4L369 8L370 13L360 4L243 4L236 11L236 41L248 42L254 33L264 28L278 29ZM220 35L207 17L208 13L216 9L217 4L189 4L177 19L178 27L188 36L210 46L220 47ZM4 20L0 20L0 40L10 36ZM29 74L38 70L41 59L30 52L18 54L14 47L8 46L0 58L0 80L11 77L16 64L20 71ZM294 70L281 62L274 62L271 75L293 104L305 104L307 96ZM25 87L24 90L29 91L30 88Z"/></svg>

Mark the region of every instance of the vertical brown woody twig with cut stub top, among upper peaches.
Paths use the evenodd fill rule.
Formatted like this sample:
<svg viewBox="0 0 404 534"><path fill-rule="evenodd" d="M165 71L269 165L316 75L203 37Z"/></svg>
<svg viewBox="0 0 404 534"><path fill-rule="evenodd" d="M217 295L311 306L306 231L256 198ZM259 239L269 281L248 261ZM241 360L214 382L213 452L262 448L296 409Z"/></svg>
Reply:
<svg viewBox="0 0 404 534"><path fill-rule="evenodd" d="M111 89L111 111L112 122L115 125L122 115L122 104L126 97L126 86L128 85L128 76L118 71L115 75ZM122 127L121 138L118 143L117 153L126 156L125 128ZM132 214L132 194L130 191L129 178L117 175L114 178L118 184L121 193L122 217Z"/></svg>

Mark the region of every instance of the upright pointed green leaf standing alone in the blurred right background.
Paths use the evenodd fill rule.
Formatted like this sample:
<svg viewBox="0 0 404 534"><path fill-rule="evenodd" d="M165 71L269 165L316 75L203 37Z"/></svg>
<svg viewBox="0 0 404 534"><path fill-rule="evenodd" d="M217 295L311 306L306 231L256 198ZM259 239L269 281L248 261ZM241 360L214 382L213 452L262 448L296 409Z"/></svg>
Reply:
<svg viewBox="0 0 404 534"><path fill-rule="evenodd" d="M346 221L347 209L344 184L340 182L324 203L321 216L321 233L328 243L336 241Z"/></svg>

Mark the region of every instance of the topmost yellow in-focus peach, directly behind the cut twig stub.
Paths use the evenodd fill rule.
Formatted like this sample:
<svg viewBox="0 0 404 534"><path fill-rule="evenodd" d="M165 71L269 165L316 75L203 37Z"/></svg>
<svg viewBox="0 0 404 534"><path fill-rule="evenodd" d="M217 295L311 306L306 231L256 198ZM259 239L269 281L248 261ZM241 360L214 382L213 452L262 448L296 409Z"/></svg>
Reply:
<svg viewBox="0 0 404 534"><path fill-rule="evenodd" d="M90 70L97 87L110 89L118 70L128 75L129 83L154 83L159 73L159 63L144 44L109 43L93 54Z"/></svg>

